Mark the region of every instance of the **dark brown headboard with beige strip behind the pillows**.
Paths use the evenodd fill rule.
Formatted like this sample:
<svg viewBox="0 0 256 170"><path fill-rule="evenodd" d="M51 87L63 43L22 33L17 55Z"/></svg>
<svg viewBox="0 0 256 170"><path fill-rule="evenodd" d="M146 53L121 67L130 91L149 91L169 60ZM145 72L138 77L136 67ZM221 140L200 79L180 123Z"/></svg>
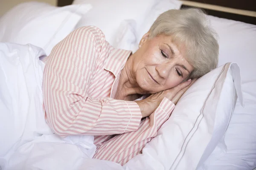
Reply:
<svg viewBox="0 0 256 170"><path fill-rule="evenodd" d="M227 18L256 25L256 0L181 0L181 8L196 7L215 17ZM58 0L58 6L73 0Z"/></svg>

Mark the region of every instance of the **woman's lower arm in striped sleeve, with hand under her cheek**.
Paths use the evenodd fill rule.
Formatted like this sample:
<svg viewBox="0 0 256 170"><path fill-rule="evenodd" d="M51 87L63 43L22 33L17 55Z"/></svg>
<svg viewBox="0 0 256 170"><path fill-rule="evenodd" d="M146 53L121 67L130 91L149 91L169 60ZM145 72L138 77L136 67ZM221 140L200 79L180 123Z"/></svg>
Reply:
<svg viewBox="0 0 256 170"><path fill-rule="evenodd" d="M154 109L154 112L140 123L138 130L114 136L104 142L100 141L100 137L99 139L96 138L97 150L93 158L115 161L123 165L141 153L145 144L157 136L157 131L169 119L175 108L175 103L194 82L195 79L191 82L183 82L172 89L149 96L146 98L148 100L143 99L145 102L140 104L144 105L144 103L147 103L146 107L149 109L152 109L152 107L154 109L154 106L151 107L150 105L161 101L160 104L155 105L156 109Z"/></svg>

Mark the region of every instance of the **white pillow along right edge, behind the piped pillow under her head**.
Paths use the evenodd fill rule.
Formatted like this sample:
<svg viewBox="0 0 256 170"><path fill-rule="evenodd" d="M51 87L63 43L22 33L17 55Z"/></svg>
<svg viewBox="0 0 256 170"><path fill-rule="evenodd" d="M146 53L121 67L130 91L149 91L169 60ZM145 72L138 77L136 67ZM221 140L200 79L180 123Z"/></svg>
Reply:
<svg viewBox="0 0 256 170"><path fill-rule="evenodd" d="M219 36L219 65L241 68L244 108L237 104L225 136L198 170L251 170L256 167L256 26L208 16Z"/></svg>

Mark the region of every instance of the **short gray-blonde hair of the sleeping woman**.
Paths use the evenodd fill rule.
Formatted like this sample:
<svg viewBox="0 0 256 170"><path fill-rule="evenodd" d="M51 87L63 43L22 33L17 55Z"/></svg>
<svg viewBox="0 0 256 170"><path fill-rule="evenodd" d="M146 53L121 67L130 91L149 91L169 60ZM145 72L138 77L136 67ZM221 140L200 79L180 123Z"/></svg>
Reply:
<svg viewBox="0 0 256 170"><path fill-rule="evenodd" d="M172 36L177 45L185 45L184 57L195 68L189 78L201 77L217 67L217 34L200 9L166 11L155 20L149 32L149 38L164 34Z"/></svg>

